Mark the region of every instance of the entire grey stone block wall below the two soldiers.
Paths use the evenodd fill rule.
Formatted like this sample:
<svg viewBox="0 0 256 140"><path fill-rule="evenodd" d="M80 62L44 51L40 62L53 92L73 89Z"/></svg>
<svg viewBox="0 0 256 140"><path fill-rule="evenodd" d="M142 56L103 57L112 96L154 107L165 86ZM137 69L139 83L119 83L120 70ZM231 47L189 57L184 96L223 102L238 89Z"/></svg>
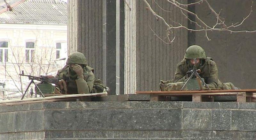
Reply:
<svg viewBox="0 0 256 140"><path fill-rule="evenodd" d="M0 106L0 139L256 139L256 103L48 102Z"/></svg>

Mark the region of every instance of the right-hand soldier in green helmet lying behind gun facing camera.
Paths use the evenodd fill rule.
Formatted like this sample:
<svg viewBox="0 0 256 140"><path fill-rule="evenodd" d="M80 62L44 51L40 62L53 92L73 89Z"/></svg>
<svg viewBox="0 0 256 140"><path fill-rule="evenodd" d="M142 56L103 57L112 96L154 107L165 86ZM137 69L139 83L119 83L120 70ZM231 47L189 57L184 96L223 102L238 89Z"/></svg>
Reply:
<svg viewBox="0 0 256 140"><path fill-rule="evenodd" d="M204 49L197 45L189 46L186 50L184 59L177 65L173 82L184 82L188 78L187 72L192 70L194 65L201 70L199 75L211 89L237 89L230 82L220 82L216 63L212 58L206 57Z"/></svg>

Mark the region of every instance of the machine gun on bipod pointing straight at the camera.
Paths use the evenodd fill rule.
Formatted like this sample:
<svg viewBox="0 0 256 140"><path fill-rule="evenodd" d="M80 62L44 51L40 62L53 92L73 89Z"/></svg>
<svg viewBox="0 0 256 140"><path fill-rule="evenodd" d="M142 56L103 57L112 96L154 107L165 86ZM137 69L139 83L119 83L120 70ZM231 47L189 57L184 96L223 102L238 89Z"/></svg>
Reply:
<svg viewBox="0 0 256 140"><path fill-rule="evenodd" d="M201 82L204 84L204 86L208 89L208 90L211 90L210 88L209 88L209 86L204 82L204 79L198 74L198 72L201 72L201 70L200 69L196 69L196 63L197 63L197 61L196 61L196 58L194 58L194 61L195 61L195 64L194 64L194 67L193 67L193 69L192 70L189 70L188 72L187 72L187 74L188 74L188 80L186 81L186 83L182 86L182 88L181 88L181 90L184 90L184 88L187 86L187 84L188 84L188 82L191 80L191 79L197 79L197 83L198 83L198 85L200 86L200 89L202 90L203 89L203 87L202 87L202 85L201 85Z"/></svg>

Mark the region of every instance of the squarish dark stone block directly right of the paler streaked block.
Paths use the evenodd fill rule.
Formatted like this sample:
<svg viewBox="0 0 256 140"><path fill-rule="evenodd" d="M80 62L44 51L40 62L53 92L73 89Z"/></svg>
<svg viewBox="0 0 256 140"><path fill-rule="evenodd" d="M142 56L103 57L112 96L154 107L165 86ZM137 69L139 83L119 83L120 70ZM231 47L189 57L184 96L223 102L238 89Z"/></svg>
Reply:
<svg viewBox="0 0 256 140"><path fill-rule="evenodd" d="M231 110L212 109L212 130L231 129Z"/></svg>

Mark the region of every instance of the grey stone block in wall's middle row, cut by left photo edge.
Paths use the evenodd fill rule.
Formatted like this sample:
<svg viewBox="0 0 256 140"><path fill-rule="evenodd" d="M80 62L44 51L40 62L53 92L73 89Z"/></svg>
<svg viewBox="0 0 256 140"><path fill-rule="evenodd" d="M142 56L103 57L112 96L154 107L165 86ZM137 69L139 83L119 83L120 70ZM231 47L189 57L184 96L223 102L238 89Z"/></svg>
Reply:
<svg viewBox="0 0 256 140"><path fill-rule="evenodd" d="M14 132L13 116L12 112L0 113L0 133Z"/></svg>

